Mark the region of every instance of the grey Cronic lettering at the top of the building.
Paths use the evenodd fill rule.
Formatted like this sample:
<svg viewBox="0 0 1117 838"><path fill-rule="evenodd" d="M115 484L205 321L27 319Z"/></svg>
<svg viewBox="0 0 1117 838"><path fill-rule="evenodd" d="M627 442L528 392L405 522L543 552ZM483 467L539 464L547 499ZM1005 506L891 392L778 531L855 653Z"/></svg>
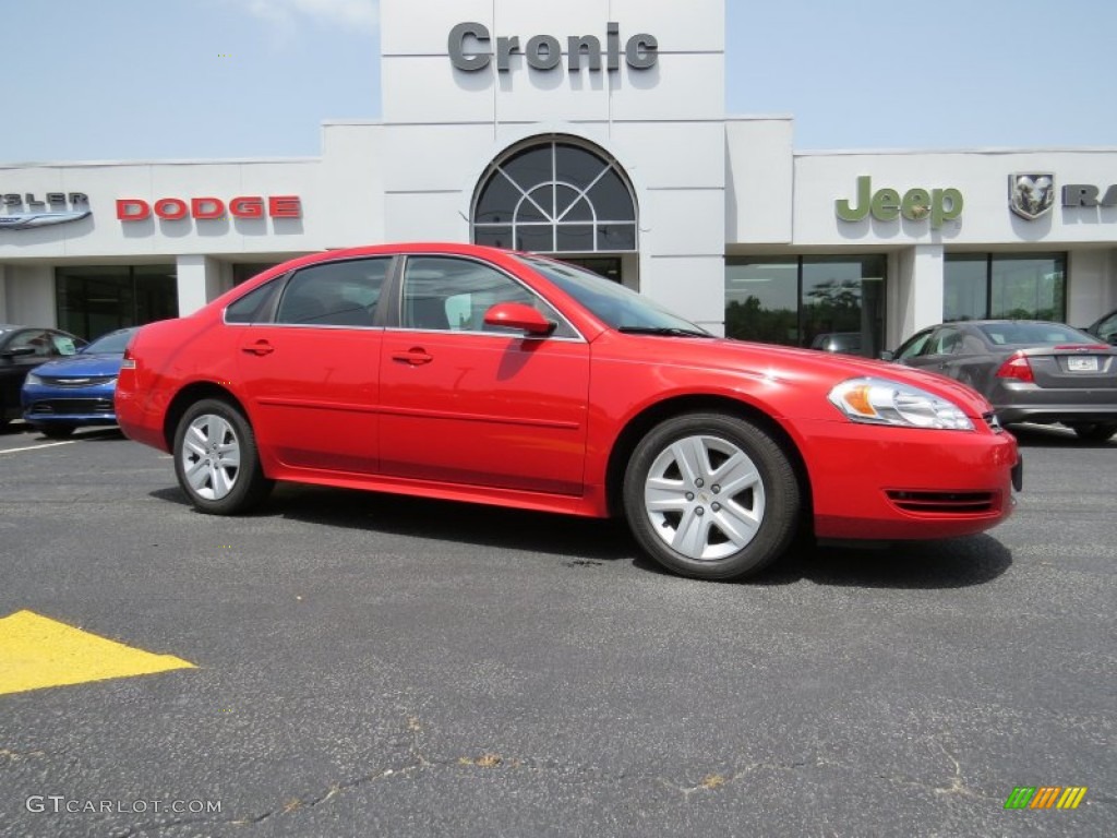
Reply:
<svg viewBox="0 0 1117 838"><path fill-rule="evenodd" d="M466 73L476 73L493 63L494 54L498 73L512 69L514 55L524 56L527 66L537 70L552 70L562 64L562 44L550 35L533 36L524 46L521 46L518 36L500 36L496 39L495 53L491 45L493 35L484 23L458 23L450 30L450 64ZM659 41L646 32L633 35L626 41L623 53L624 61L632 69L649 69L656 66L659 58ZM566 66L571 73L580 72L583 61L586 69L600 73L602 57L605 59L605 69L620 69L620 23L610 22L605 28L604 50L601 40L593 35L572 35L566 38Z"/></svg>

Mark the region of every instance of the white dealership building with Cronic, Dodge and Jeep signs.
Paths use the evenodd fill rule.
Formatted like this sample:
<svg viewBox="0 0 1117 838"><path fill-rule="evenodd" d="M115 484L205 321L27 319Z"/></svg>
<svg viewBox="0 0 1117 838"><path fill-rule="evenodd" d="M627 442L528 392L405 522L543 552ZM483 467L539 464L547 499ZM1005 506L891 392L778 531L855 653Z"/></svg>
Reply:
<svg viewBox="0 0 1117 838"><path fill-rule="evenodd" d="M380 8L382 116L326 123L319 156L0 161L0 323L95 337L292 256L419 240L556 254L719 333L867 355L1117 307L1117 147L796 151L793 117L726 114L724 0Z"/></svg>

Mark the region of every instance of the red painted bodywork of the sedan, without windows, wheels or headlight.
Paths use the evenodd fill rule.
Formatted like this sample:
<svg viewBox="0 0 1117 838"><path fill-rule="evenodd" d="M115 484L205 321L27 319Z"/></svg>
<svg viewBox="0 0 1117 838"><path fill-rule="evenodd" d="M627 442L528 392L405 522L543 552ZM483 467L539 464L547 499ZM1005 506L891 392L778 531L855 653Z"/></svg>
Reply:
<svg viewBox="0 0 1117 838"><path fill-rule="evenodd" d="M231 211L230 206L230 211ZM226 325L232 301L292 268L393 254L483 259L542 294L583 341L403 328ZM381 301L382 306L391 304ZM1011 511L1016 445L989 403L941 375L877 361L725 340L615 332L506 251L469 245L334 250L279 265L189 317L145 326L116 412L132 439L169 450L168 407L221 387L256 430L265 473L330 486L588 516L610 512L610 457L647 411L700 398L763 415L801 458L820 537L938 539ZM877 375L949 399L973 431L853 423L829 403ZM986 493L978 512L905 511L888 493Z"/></svg>

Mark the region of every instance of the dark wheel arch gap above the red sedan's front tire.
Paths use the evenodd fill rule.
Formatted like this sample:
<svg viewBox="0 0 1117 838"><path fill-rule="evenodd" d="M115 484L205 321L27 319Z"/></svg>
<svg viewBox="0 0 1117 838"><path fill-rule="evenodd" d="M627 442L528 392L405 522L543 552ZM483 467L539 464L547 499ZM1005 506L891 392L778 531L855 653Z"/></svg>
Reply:
<svg viewBox="0 0 1117 838"><path fill-rule="evenodd" d="M804 511L803 518L810 524L813 520L810 473L794 439L780 422L760 408L737 399L713 394L677 396L665 399L645 408L629 420L613 442L605 470L605 492L611 517L620 516L623 513L624 469L637 445L648 431L660 422L686 413L724 413L747 420L764 429L791 461L792 470L799 483Z"/></svg>

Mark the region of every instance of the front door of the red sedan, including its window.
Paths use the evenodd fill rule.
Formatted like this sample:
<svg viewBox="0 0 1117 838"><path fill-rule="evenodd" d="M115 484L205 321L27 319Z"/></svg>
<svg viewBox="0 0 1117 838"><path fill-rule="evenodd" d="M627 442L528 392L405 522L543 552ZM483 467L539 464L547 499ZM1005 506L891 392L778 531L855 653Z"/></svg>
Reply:
<svg viewBox="0 0 1117 838"><path fill-rule="evenodd" d="M581 494L589 345L534 292L476 259L410 257L401 294L381 359L381 470ZM487 327L485 312L504 302L558 325L542 339Z"/></svg>

